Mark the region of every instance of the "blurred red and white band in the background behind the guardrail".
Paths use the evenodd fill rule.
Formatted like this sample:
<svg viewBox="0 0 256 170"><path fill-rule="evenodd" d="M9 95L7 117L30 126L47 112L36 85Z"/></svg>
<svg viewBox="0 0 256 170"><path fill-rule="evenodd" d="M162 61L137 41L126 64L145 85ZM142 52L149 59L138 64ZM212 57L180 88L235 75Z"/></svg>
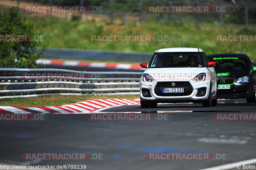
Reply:
<svg viewBox="0 0 256 170"><path fill-rule="evenodd" d="M131 69L131 70L143 70L139 65L132 64L118 64L118 63L96 63L96 62L83 62L83 61L65 61L65 60L48 60L38 59L36 64L45 65L61 65L61 66L87 66L87 67L100 67L100 68L116 68L116 69Z"/></svg>

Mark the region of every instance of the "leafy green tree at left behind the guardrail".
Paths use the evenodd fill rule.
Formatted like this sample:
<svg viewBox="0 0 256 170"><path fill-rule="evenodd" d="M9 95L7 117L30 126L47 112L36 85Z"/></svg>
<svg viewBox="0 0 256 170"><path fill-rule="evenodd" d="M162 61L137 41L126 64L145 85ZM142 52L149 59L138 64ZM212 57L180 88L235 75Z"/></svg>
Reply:
<svg viewBox="0 0 256 170"><path fill-rule="evenodd" d="M21 41L18 39L21 36L27 38ZM33 40L34 37L37 37L36 29L31 20L22 18L17 9L11 7L9 12L0 12L0 67L36 68L36 59L46 48L42 42Z"/></svg>

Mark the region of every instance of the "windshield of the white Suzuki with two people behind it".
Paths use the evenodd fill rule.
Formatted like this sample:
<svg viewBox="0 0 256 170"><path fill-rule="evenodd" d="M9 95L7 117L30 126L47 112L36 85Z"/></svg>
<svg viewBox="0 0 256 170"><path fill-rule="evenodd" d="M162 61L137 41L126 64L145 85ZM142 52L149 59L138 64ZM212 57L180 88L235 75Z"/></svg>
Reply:
<svg viewBox="0 0 256 170"><path fill-rule="evenodd" d="M202 67L202 60L199 52L163 52L154 55L149 67Z"/></svg>

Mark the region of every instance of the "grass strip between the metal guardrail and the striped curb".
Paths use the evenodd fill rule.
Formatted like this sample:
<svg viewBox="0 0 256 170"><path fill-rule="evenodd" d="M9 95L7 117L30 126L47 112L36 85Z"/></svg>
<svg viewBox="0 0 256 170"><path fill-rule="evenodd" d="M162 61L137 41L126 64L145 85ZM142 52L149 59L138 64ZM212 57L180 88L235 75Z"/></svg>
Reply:
<svg viewBox="0 0 256 170"><path fill-rule="evenodd" d="M45 97L26 97L26 98L8 98L1 99L0 106L19 106L19 107L38 107L38 106L62 106L65 104L72 104L86 100L93 99L113 99L113 98L125 98L125 99L137 99L140 96L45 96Z"/></svg>

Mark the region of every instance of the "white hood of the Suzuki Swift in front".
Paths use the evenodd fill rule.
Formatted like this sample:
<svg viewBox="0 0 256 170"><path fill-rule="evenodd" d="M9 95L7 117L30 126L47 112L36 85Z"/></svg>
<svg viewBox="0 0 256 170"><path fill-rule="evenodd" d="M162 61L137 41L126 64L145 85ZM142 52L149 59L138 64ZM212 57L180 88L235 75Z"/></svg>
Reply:
<svg viewBox="0 0 256 170"><path fill-rule="evenodd" d="M190 81L199 73L209 73L209 70L206 67L148 68L144 73L156 81Z"/></svg>

